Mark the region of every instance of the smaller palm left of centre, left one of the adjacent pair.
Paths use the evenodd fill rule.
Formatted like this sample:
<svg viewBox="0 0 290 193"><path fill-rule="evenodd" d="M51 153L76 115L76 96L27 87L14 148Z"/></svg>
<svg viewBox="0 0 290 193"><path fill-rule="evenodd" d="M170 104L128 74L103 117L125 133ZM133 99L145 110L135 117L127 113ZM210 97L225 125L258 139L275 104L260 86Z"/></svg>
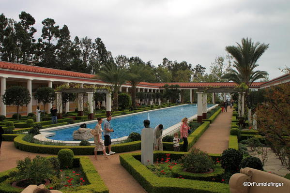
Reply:
<svg viewBox="0 0 290 193"><path fill-rule="evenodd" d="M107 82L113 88L113 110L118 110L118 91L126 81L126 71L119 68L114 62L110 62L105 64L103 70L96 74L96 78Z"/></svg>

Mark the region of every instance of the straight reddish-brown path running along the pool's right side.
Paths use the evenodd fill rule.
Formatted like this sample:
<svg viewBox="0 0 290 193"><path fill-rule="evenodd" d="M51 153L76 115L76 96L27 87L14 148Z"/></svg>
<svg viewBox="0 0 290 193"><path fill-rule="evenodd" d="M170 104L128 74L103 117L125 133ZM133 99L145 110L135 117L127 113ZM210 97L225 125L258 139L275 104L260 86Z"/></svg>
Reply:
<svg viewBox="0 0 290 193"><path fill-rule="evenodd" d="M220 113L193 147L207 153L222 153L229 148L231 117L232 109L228 107L228 112Z"/></svg>

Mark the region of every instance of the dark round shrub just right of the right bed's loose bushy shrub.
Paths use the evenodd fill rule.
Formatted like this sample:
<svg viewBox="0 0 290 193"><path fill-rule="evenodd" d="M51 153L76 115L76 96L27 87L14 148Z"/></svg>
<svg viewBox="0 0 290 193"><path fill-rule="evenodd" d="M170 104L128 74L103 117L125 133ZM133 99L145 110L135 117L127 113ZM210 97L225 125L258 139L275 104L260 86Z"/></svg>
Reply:
<svg viewBox="0 0 290 193"><path fill-rule="evenodd" d="M239 171L239 165L243 159L243 155L240 151L229 148L223 151L221 155L221 166L226 171L237 172Z"/></svg>

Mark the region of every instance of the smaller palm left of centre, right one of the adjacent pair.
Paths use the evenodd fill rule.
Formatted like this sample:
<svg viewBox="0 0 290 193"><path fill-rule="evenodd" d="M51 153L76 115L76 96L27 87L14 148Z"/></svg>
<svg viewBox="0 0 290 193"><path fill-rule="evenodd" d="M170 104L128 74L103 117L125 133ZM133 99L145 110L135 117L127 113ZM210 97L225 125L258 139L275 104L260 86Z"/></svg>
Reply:
<svg viewBox="0 0 290 193"><path fill-rule="evenodd" d="M132 86L131 98L133 108L136 108L136 87L137 85L144 81L149 74L145 70L145 66L138 62L131 62L128 68L128 78L127 80Z"/></svg>

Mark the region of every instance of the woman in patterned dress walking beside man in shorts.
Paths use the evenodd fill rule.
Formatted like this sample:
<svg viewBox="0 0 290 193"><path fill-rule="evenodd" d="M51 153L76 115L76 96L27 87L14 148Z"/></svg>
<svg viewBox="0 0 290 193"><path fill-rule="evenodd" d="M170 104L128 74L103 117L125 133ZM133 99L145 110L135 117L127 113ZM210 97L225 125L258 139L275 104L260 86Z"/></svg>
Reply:
<svg viewBox="0 0 290 193"><path fill-rule="evenodd" d="M104 140L102 139L102 118L97 118L98 123L96 124L95 128L92 129L91 134L94 135L93 141L95 143L95 148L94 148L94 155L95 155L95 160L99 160L97 158L97 152L98 151L103 151L103 154L105 158L109 158L109 154L106 153L105 151L105 144Z"/></svg>

